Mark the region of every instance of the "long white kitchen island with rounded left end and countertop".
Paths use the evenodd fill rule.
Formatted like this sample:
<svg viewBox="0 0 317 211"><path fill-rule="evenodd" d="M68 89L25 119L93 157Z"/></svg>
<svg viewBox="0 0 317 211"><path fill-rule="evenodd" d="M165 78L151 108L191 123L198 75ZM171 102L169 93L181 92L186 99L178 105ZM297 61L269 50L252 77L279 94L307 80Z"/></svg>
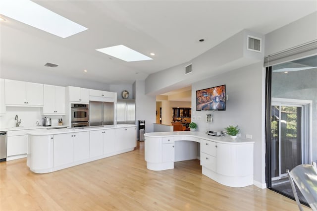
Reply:
<svg viewBox="0 0 317 211"><path fill-rule="evenodd" d="M49 173L134 150L136 125L39 129L28 132L27 166Z"/></svg>

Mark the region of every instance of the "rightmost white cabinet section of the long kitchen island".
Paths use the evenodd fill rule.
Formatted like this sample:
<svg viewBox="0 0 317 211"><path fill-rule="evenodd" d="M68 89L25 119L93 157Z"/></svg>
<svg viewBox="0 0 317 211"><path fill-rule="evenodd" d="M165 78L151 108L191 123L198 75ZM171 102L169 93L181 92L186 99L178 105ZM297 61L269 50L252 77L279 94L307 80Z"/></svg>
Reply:
<svg viewBox="0 0 317 211"><path fill-rule="evenodd" d="M115 139L115 151L122 151L136 147L136 127L116 128Z"/></svg>

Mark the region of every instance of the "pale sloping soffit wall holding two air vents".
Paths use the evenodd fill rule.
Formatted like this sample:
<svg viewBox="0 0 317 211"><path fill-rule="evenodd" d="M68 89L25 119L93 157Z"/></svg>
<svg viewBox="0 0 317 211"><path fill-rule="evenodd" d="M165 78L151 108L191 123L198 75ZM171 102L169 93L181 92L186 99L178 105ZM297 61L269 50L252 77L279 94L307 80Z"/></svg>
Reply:
<svg viewBox="0 0 317 211"><path fill-rule="evenodd" d="M201 81L202 78L261 61L264 52L246 51L247 35L262 38L264 43L264 35L248 30L238 32L191 61L149 75L145 84L146 94L160 95ZM184 75L185 66L190 63L192 63L193 71Z"/></svg>

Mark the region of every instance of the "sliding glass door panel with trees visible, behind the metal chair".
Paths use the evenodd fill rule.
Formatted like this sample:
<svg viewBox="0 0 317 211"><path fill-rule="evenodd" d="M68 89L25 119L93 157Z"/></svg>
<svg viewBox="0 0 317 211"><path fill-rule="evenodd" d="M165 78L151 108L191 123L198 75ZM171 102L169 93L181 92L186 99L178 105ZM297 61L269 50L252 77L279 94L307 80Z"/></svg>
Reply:
<svg viewBox="0 0 317 211"><path fill-rule="evenodd" d="M272 105L271 177L272 181L278 181L287 177L286 169L303 163L302 106L281 106L275 102Z"/></svg>

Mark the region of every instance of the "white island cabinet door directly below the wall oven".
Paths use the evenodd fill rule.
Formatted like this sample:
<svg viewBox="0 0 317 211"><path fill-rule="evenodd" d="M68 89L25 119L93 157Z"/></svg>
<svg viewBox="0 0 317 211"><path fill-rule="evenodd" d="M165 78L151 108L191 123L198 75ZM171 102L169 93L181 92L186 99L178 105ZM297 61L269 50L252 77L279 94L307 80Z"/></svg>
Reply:
<svg viewBox="0 0 317 211"><path fill-rule="evenodd" d="M89 132L73 133L74 162L89 158Z"/></svg>

